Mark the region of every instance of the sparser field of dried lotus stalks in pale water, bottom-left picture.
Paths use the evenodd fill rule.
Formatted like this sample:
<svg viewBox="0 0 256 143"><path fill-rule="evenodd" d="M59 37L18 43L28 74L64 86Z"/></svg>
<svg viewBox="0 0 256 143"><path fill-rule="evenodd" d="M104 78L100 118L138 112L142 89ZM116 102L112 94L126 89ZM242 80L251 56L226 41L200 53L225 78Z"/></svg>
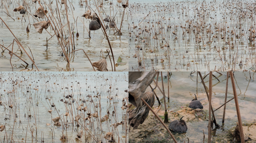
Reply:
<svg viewBox="0 0 256 143"><path fill-rule="evenodd" d="M128 74L1 72L0 142L127 143Z"/></svg>

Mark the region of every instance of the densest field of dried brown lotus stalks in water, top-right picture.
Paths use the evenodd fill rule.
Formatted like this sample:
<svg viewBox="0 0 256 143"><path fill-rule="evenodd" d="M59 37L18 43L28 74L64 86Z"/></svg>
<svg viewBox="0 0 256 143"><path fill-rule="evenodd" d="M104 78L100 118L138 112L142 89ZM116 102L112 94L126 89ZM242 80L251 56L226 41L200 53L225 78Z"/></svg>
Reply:
<svg viewBox="0 0 256 143"><path fill-rule="evenodd" d="M255 71L255 1L129 2L129 71Z"/></svg>

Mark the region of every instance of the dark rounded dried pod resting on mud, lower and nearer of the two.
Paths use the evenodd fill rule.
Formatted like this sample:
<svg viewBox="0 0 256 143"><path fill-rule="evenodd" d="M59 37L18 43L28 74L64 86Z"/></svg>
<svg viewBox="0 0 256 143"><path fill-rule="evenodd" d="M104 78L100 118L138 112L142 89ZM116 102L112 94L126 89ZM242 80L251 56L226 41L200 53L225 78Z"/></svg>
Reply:
<svg viewBox="0 0 256 143"><path fill-rule="evenodd" d="M184 132L186 132L188 130L186 122L184 120L182 120L183 117L181 117L180 120L172 121L168 125L170 131L177 132L177 133L184 133Z"/></svg>

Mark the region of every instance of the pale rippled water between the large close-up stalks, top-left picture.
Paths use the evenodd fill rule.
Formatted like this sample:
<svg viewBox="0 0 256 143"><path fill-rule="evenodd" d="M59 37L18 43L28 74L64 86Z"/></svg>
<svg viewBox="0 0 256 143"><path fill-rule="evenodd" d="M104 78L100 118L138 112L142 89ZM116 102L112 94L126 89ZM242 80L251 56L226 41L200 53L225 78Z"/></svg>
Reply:
<svg viewBox="0 0 256 143"><path fill-rule="evenodd" d="M40 71L93 71L92 66L86 57L86 55L80 50L76 51L74 53L71 53L69 55L69 60L70 60L70 70L67 67L67 61L65 60L65 56L61 56L63 53L63 50L61 49L61 46L58 42L57 37L54 35L54 31L52 28L48 27L47 31L51 34L54 35L51 38L51 35L43 29L42 34L39 34L39 32L36 31L33 25L34 22L37 22L39 18L32 18L31 15L25 14L24 18L26 20L22 20L22 14L19 14L19 12L13 12L13 9L15 7L18 7L17 3L22 3L21 1L15 1L12 4L9 4L5 0L1 0L1 3L4 3L7 7L7 10L9 11L11 17L7 16L6 9L3 6L0 7L0 17L6 22L7 26L9 26L10 30L13 32L13 34L16 36L16 38L21 42L22 46L25 48L25 50L29 53L29 55L32 57L31 53L33 54L34 61L36 63L36 66ZM97 1L96 1L97 2ZM34 12L36 11L36 8L38 8L40 5L38 2L36 3L36 8L34 7L34 3L30 0L27 1L28 5L30 6L31 14L33 15ZM49 1L45 1L49 5ZM107 55L107 49L110 50L109 44L107 41L106 36L104 36L103 31L101 29L97 31L91 31L91 38L89 38L89 22L91 20L88 19L83 19L82 15L88 10L88 7L86 7L86 3L83 2L83 6L79 5L78 0L72 0L70 3L73 5L70 6L68 3L68 19L70 21L70 27L72 26L72 29L74 30L74 45L75 45L75 50L78 49L83 49L85 50L86 54L90 58L90 60L93 62L100 60L100 52L103 50L104 57ZM106 17L106 14L109 16L113 16L114 14L116 15L116 25L118 26L118 29L120 28L121 25L121 19L122 19L122 14L124 11L124 8L122 7L122 3L119 4L117 1L112 1L114 11L113 9L111 10L110 14L110 1L104 1L103 4L103 10L100 9L101 15L103 18ZM94 0L88 0L88 4L91 4L91 8L93 10L96 10L96 7L94 6ZM118 5L118 6L117 6ZM57 8L56 6L56 1L53 1L53 4L51 4L52 8L55 10ZM61 7L62 6L62 7ZM45 6L47 7L47 6ZM73 8L74 7L74 8ZM65 7L64 4L60 5L58 3L58 8L60 9L60 16L61 16L61 22L63 25L67 23L67 16L65 12ZM72 8L72 11L71 11ZM49 8L47 7L47 10L49 11ZM58 10L57 10L58 11ZM93 11L92 11L93 12ZM106 14L105 14L106 12ZM47 15L49 15L48 12ZM98 12L97 12L98 13ZM29 15L29 20L28 20L28 15ZM55 18L57 19L56 12L54 13ZM73 18L74 16L74 18ZM45 16L46 17L46 16ZM19 18L19 20L18 20ZM80 19L81 20L80 20ZM40 19L42 20L42 19ZM47 20L47 19L44 19ZM85 28L83 27L83 23L85 25ZM104 22L105 25L107 24ZM13 42L13 35L11 32L7 29L3 23L0 26L0 41L1 44L4 43L5 47L8 47L12 42ZM26 28L29 25L30 32L26 32ZM56 23L55 23L56 25ZM109 25L109 24L108 24ZM128 71L128 22L127 22L127 9L125 10L125 15L124 15L124 20L122 23L122 28L121 32L122 35L119 36L118 34L114 35L113 30L109 31L107 30L107 35L109 37L110 44L113 49L113 54L115 58L115 63L117 63L117 60L119 57L122 58L123 62L127 62L127 64L123 66L118 66L116 67L116 71ZM64 28L64 38L69 37L68 34L68 26L66 25ZM88 29L88 31L86 30ZM79 37L76 37L76 33L79 33ZM46 38L48 38L48 50L46 51ZM51 39L50 39L51 38ZM73 38L73 36L72 36ZM3 41L2 41L3 40ZM72 40L73 41L73 40ZM25 45L26 44L26 45ZM30 47L30 50L28 47ZM12 46L9 47L11 50ZM25 60L29 65L27 66L24 62L22 62L19 58L15 57L15 55L12 57L12 65L13 65L13 71L35 71L36 67L32 64L28 56L25 54L24 51L23 54L21 54L21 51L18 50L17 44L14 45L14 50L18 56L20 56L23 60ZM3 48L4 49L4 48ZM72 50L72 47L70 45L70 48L68 50ZM66 49L67 51L67 49ZM69 53L68 51L68 53ZM2 52L2 50L1 50ZM12 66L10 65L10 54L6 50L4 53L0 55L0 60L1 60L1 65L0 65L0 70L1 71L12 71ZM111 53L110 53L111 55ZM102 57L102 53L101 53ZM113 64L113 59L112 64ZM22 66L22 64L24 66ZM111 63L109 60L109 57L107 58L107 65L108 65L108 70L112 71L111 68ZM114 66L114 65L113 65ZM25 68L26 67L26 68ZM114 67L113 67L114 69ZM95 68L96 70L96 68Z"/></svg>

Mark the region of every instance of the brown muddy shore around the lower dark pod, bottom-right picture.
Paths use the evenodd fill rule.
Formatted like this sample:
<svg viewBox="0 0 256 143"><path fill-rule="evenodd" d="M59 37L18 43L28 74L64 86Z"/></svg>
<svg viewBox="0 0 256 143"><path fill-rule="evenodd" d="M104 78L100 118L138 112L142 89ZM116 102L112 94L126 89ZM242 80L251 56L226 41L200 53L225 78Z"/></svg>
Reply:
<svg viewBox="0 0 256 143"><path fill-rule="evenodd" d="M199 112L199 111L195 111L194 109L188 108L187 106L188 105L186 105L186 107L183 107L182 109L177 111L168 110L169 123L173 120L177 120L180 117L184 116L183 119L186 121L188 125L188 130L191 130L190 128L191 125L196 125L196 123L203 124L205 126L204 128L205 138L207 138L207 124L208 124L207 108L202 109L202 111ZM134 106L132 106L129 109L133 109L133 108ZM155 112L157 112L158 108L159 107L155 107L153 109ZM162 109L162 107L158 111L158 115L164 121L164 109ZM236 141L232 141L233 140L232 134L234 133L236 124L234 123L231 125L229 129L226 129L224 128L225 124L221 124L221 122L218 122L218 123L220 124L221 128L217 129L213 127L214 129L212 130L212 133L211 133L212 134L211 142L212 143L216 143L216 142L217 143L222 143L222 142L236 143ZM168 124L166 125L168 126ZM165 130L163 125L160 123L160 121L158 121L157 118L154 117L152 112L149 112L148 117L146 118L143 124L140 124L138 126L137 130L132 130L132 129L133 128L131 127L129 130L129 143L148 143L148 142L173 143L173 139L171 139L171 136L168 134L167 130ZM246 143L255 143L256 142L256 139L255 139L256 120L253 120L251 123L243 124L243 130L247 139ZM173 133L173 135L178 142L182 142L182 143L184 142L184 139L186 137L189 138L190 143L202 143L204 138L203 136L189 136L189 135L186 135L186 133ZM187 139L186 139L186 142L188 142ZM207 142L207 139L205 139L204 142Z"/></svg>

